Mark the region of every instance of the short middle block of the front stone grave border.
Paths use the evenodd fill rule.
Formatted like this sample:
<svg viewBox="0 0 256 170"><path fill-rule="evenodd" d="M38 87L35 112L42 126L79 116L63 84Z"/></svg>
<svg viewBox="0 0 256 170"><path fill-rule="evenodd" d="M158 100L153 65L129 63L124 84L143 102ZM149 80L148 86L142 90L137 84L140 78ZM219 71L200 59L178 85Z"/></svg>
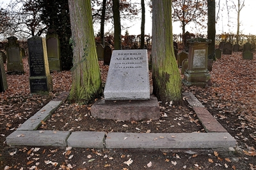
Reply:
<svg viewBox="0 0 256 170"><path fill-rule="evenodd" d="M72 132L68 146L74 148L104 148L105 132Z"/></svg>

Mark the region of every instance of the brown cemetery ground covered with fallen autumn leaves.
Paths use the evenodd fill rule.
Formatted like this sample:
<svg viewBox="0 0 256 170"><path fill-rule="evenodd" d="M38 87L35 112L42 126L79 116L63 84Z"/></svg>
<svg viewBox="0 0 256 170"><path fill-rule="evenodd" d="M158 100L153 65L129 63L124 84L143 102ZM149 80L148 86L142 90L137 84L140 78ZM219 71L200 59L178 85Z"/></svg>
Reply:
<svg viewBox="0 0 256 170"><path fill-rule="evenodd" d="M28 58L23 62L24 75L7 75L8 90L0 94L0 169L256 169L255 54L253 60L243 60L241 52L222 55L213 64L211 86L182 89L193 93L236 139L232 152L8 146L6 137L52 98L69 91L72 81L70 72L53 72L54 91L49 96L30 95ZM104 82L108 66L99 63ZM64 102L38 130L204 133L185 98L177 106L160 103L157 121L96 120L90 116L92 104Z"/></svg>

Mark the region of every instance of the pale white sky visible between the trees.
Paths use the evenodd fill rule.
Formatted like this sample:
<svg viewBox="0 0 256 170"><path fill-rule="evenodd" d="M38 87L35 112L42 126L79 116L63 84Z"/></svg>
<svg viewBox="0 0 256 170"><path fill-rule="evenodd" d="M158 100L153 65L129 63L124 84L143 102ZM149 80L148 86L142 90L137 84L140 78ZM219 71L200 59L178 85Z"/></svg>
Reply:
<svg viewBox="0 0 256 170"><path fill-rule="evenodd" d="M87 1L87 0L86 0ZM138 1L138 0L133 0ZM218 0L216 0L217 2ZM237 3L236 0L234 0L235 3ZM10 0L0 0L0 4L8 4ZM225 0L220 0L221 3L225 3ZM145 34L146 35L152 35L152 18L148 9L147 4L146 5L146 20L145 20ZM256 22L254 20L254 15L256 13L255 7L256 7L256 0L244 0L244 8L241 10L240 20L241 20L241 26L240 31L243 34L246 35L256 35ZM216 10L218 8L216 7ZM235 33L237 29L237 13L236 11L230 11L230 26L228 26L228 15L227 15L227 9L225 8L222 13L220 13L220 19L216 23L216 34L221 33ZM124 20L121 20L121 24L124 24ZM129 35L140 35L140 26L141 21L135 20L134 22L125 23L127 25L131 25L131 27L128 30ZM108 31L109 27L106 27L105 31ZM122 35L125 34L125 30L122 30ZM95 32L99 31L99 27L95 27ZM194 24L188 24L186 26L186 31L189 31L190 33L202 33L207 34L207 30L202 29L195 29ZM182 29L180 27L180 22L173 22L173 34L180 34L182 33Z"/></svg>

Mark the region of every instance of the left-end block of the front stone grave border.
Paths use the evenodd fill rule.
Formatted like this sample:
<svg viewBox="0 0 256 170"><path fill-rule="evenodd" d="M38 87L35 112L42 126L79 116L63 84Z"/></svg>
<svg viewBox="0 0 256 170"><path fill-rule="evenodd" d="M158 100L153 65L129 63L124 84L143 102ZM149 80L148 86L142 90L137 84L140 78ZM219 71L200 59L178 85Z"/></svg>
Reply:
<svg viewBox="0 0 256 170"><path fill-rule="evenodd" d="M6 137L6 143L13 146L67 146L68 131L16 130Z"/></svg>

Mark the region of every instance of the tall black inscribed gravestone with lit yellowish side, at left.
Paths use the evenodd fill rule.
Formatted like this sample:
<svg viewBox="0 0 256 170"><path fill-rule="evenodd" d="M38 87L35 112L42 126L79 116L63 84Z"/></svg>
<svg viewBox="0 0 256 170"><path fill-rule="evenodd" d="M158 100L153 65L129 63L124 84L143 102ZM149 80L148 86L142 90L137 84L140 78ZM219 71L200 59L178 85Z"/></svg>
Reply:
<svg viewBox="0 0 256 170"><path fill-rule="evenodd" d="M45 38L33 36L28 39L29 84L31 93L44 94L52 91Z"/></svg>

